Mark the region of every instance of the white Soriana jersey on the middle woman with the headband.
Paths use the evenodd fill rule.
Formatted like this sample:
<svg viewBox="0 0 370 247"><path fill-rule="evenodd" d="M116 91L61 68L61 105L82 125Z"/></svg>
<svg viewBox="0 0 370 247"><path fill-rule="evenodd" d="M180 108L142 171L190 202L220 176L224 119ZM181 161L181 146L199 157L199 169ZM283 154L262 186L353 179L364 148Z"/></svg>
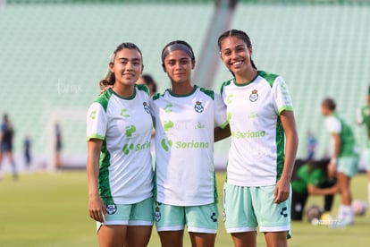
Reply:
<svg viewBox="0 0 370 247"><path fill-rule="evenodd" d="M186 96L170 89L150 101L156 127L156 200L199 206L217 200L214 127L226 123L220 95L194 86Z"/></svg>

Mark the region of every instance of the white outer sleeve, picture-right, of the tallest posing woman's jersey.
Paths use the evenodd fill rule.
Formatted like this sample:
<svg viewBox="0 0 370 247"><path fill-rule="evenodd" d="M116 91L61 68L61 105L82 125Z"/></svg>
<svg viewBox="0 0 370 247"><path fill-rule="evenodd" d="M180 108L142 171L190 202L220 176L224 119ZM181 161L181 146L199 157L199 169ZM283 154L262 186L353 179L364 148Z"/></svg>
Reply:
<svg viewBox="0 0 370 247"><path fill-rule="evenodd" d="M293 110L293 104L291 102L288 87L280 76L276 77L273 83L273 97L276 111L279 115L282 113L282 111Z"/></svg>

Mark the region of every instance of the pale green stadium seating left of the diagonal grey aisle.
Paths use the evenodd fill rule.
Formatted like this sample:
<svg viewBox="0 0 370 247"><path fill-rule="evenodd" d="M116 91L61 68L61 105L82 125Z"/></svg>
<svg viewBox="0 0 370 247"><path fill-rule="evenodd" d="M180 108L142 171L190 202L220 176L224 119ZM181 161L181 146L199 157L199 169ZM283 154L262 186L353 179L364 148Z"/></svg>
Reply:
<svg viewBox="0 0 370 247"><path fill-rule="evenodd" d="M213 9L213 3L7 4L0 10L0 114L13 120L15 152L21 153L28 132L35 154L50 152L54 115L62 127L63 154L85 156L85 116L71 122L63 112L86 111L97 98L115 47L136 43L144 72L164 90L170 83L161 67L162 48L184 39L198 54Z"/></svg>

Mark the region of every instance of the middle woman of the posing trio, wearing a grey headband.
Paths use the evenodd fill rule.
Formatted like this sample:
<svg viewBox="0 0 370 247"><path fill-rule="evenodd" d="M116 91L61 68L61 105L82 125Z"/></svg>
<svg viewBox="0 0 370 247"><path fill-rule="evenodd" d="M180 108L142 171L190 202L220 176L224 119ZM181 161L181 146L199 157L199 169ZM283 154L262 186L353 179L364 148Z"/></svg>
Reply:
<svg viewBox="0 0 370 247"><path fill-rule="evenodd" d="M150 108L156 127L155 222L162 246L214 246L218 226L214 176L214 127L226 123L220 95L191 83L192 48L182 40L162 52L171 89L156 94Z"/></svg>

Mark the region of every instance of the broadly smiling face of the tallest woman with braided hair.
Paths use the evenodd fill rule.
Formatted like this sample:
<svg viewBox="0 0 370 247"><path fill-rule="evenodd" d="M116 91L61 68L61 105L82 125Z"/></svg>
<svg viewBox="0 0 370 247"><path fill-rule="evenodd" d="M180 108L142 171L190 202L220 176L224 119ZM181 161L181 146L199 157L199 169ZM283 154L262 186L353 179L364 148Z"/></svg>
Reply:
<svg viewBox="0 0 370 247"><path fill-rule="evenodd" d="M252 47L247 47L242 39L235 36L224 38L220 48L223 64L236 76L253 69L250 63Z"/></svg>

